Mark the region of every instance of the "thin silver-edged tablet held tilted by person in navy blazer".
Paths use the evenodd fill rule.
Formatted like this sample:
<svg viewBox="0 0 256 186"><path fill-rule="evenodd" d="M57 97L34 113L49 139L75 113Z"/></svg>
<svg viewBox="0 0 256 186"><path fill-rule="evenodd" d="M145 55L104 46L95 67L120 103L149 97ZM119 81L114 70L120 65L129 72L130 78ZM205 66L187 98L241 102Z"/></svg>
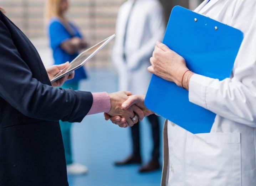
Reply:
<svg viewBox="0 0 256 186"><path fill-rule="evenodd" d="M91 59L97 52L99 52L109 41L111 41L116 34L104 39L98 44L94 45L91 48L88 48L86 51L83 51L79 54L66 68L60 71L54 78L51 79L51 83L57 79L62 78L63 76L72 73L74 70L82 67L89 59Z"/></svg>

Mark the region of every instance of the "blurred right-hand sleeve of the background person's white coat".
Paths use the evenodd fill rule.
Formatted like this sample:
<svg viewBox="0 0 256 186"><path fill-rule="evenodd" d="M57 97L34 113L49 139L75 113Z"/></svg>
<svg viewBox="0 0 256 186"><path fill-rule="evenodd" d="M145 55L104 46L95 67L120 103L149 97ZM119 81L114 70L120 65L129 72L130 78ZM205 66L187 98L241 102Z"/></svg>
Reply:
<svg viewBox="0 0 256 186"><path fill-rule="evenodd" d="M152 38L149 39L149 41L147 41L137 53L134 53L134 55L130 57L130 61L127 63L130 70L136 69L145 59L149 59L152 56L156 42L162 41L164 36L166 26L163 17L162 5L159 2L152 4L149 12L147 21Z"/></svg>

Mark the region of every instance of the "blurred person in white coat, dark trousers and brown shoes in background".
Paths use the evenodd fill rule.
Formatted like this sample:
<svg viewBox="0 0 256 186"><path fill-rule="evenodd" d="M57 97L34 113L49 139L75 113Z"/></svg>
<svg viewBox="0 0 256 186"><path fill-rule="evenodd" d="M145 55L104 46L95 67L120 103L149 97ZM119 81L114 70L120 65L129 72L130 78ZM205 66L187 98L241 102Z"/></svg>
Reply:
<svg viewBox="0 0 256 186"><path fill-rule="evenodd" d="M116 42L113 62L119 74L119 89L133 94L145 94L151 74L147 71L155 42L163 39L165 22L162 5L158 0L128 0L119 9L116 23ZM159 119L148 117L152 126L153 152L149 163L140 172L153 171L159 165ZM131 128L133 152L116 165L140 164L139 123Z"/></svg>

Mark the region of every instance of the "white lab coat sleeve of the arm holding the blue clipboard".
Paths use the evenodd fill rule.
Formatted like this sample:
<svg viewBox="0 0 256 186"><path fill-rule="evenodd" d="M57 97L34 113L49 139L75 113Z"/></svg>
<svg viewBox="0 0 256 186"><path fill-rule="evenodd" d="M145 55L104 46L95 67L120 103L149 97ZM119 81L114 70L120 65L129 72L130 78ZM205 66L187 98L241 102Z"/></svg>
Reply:
<svg viewBox="0 0 256 186"><path fill-rule="evenodd" d="M195 74L189 83L190 102L251 127L256 127L255 15L255 12L246 12L246 5L237 7L234 13L231 25L244 33L233 69L234 77L219 81Z"/></svg>

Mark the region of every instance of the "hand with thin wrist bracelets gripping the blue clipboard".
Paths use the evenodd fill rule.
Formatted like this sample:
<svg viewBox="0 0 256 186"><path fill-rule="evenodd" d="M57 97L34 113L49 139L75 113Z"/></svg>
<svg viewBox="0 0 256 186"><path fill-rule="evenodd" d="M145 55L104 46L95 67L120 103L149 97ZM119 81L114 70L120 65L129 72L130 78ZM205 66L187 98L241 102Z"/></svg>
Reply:
<svg viewBox="0 0 256 186"><path fill-rule="evenodd" d="M169 49L165 44L157 42L153 57L150 58L150 63L152 66L148 68L149 72L167 81L174 82L178 86L183 84L183 87L188 89L185 86L188 83L185 82L185 78L183 78L183 83L181 80L183 76L187 77L188 75L189 80L193 73L186 67L185 59Z"/></svg>

